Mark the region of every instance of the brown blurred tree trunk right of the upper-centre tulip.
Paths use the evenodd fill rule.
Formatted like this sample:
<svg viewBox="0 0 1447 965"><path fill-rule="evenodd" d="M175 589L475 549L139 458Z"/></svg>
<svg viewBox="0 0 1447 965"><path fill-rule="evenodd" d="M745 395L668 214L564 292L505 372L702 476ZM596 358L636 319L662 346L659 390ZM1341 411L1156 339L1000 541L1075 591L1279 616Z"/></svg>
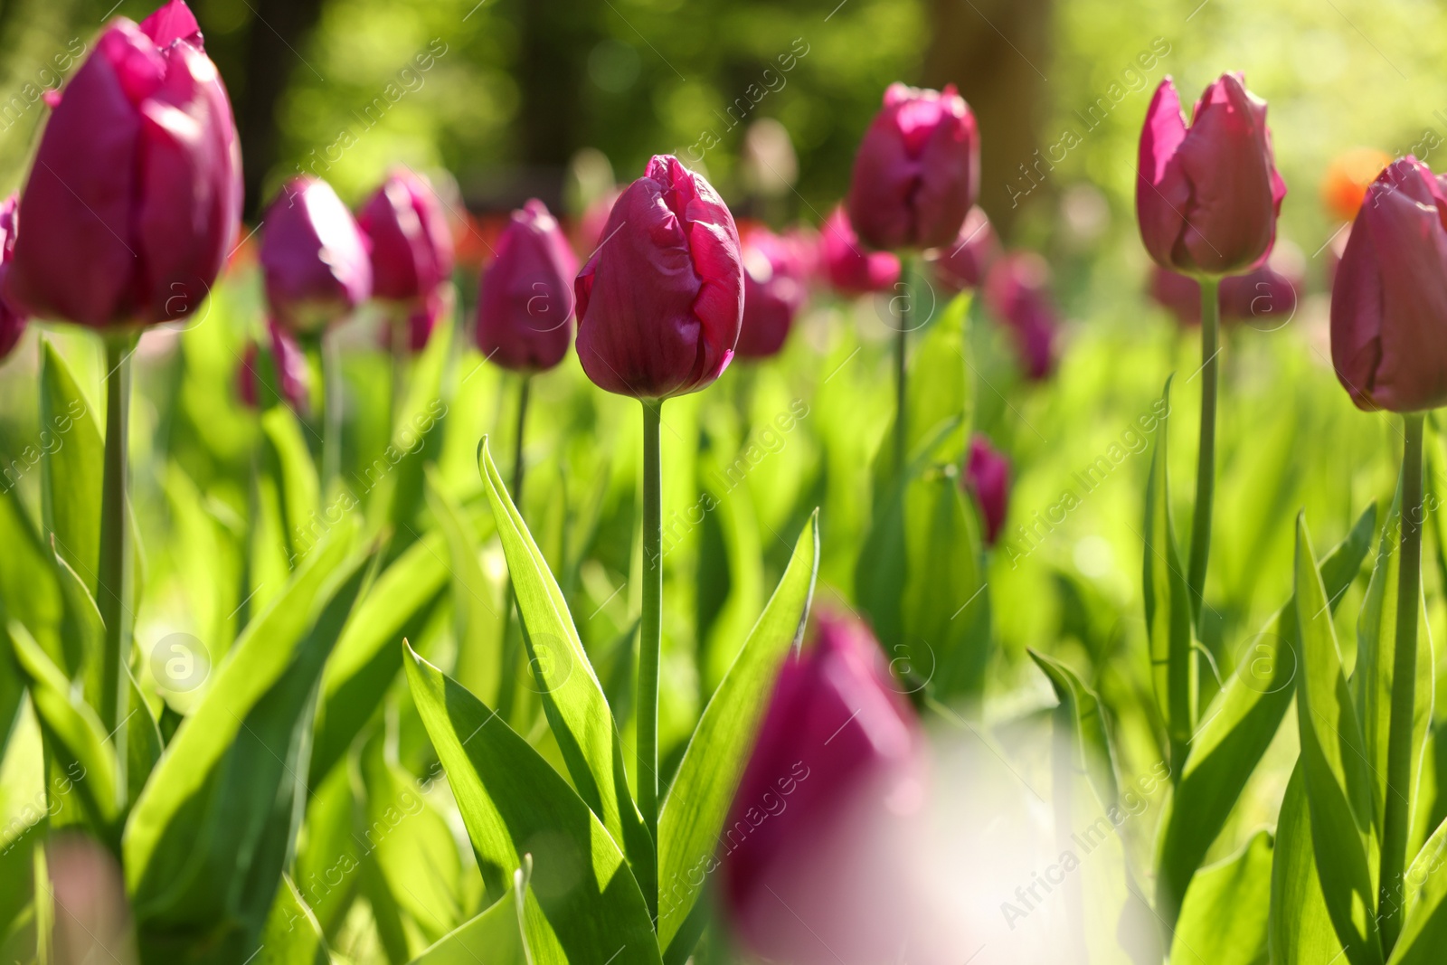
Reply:
<svg viewBox="0 0 1447 965"><path fill-rule="evenodd" d="M1052 0L930 0L925 82L955 84L980 123L980 207L1006 239L1042 146ZM1033 169L1032 169L1033 172ZM1049 194L1049 192L1048 192Z"/></svg>

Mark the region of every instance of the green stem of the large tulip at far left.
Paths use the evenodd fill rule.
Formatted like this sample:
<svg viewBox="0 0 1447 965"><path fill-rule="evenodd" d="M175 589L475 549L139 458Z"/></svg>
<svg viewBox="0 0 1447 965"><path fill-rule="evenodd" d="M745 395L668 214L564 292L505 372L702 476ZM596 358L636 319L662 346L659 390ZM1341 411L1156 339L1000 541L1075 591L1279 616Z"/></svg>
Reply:
<svg viewBox="0 0 1447 965"><path fill-rule="evenodd" d="M100 718L111 732L117 787L124 787L126 715L130 703L129 674L132 634L132 534L127 518L127 440L130 430L130 356L136 334L106 336L106 463L100 496L100 573L97 602L106 624L106 651L101 654Z"/></svg>

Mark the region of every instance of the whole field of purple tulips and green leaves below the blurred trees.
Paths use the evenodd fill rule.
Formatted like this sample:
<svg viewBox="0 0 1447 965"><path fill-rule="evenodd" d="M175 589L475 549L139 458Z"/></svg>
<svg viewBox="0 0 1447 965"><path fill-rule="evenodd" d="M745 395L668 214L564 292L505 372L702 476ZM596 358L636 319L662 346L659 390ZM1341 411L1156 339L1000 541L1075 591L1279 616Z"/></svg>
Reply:
<svg viewBox="0 0 1447 965"><path fill-rule="evenodd" d="M1000 204L977 77L809 140L800 36L738 168L258 172L133 7L0 145L0 964L1447 962L1431 129L1158 36Z"/></svg>

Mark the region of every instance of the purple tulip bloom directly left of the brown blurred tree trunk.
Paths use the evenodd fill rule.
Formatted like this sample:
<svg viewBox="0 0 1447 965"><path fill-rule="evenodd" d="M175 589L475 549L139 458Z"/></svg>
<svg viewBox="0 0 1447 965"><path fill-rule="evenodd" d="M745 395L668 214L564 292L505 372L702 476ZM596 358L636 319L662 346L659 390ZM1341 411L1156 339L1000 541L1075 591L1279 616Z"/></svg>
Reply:
<svg viewBox="0 0 1447 965"><path fill-rule="evenodd" d="M939 247L959 233L980 194L980 133L954 84L890 84L860 143L849 220L871 247Z"/></svg>

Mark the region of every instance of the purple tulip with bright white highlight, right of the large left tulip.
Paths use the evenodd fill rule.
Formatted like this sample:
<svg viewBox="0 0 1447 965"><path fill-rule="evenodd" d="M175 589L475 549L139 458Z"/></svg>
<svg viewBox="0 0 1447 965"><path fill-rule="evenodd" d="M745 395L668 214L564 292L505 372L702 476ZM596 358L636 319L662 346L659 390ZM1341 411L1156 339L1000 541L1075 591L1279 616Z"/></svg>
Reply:
<svg viewBox="0 0 1447 965"><path fill-rule="evenodd" d="M326 181L288 181L263 224L266 299L292 334L320 334L372 294L366 237Z"/></svg>

